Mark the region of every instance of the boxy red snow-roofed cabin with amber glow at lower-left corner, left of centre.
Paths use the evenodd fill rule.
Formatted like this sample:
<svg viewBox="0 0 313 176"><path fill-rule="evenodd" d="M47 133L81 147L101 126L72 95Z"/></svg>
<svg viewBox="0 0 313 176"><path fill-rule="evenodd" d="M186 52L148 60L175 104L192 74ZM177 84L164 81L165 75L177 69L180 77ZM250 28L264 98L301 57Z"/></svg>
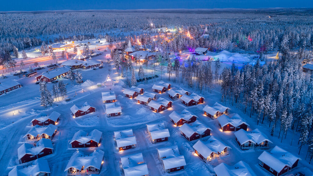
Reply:
<svg viewBox="0 0 313 176"><path fill-rule="evenodd" d="M116 131L114 137L119 151L136 148L137 140L132 129Z"/></svg>

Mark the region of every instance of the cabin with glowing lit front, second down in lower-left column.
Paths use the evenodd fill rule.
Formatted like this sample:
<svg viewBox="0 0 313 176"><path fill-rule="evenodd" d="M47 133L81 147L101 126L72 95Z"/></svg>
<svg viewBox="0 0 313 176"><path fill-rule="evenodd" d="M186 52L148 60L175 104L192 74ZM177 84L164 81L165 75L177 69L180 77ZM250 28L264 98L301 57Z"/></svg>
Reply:
<svg viewBox="0 0 313 176"><path fill-rule="evenodd" d="M57 133L58 127L55 125L48 125L45 127L33 126L24 136L25 141L38 141L41 138L52 139Z"/></svg>

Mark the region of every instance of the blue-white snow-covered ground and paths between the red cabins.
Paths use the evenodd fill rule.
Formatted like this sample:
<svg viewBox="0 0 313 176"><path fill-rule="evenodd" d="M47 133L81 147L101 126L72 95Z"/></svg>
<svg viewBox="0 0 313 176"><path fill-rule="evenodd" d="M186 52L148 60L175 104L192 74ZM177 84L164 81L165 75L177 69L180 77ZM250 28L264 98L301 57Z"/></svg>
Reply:
<svg viewBox="0 0 313 176"><path fill-rule="evenodd" d="M110 51L103 52L102 55L94 57L94 60L102 60L105 61L105 55L110 53ZM235 64L240 67L241 64L252 63L255 62L253 60L253 56L248 54L238 54L238 53L229 53L222 51L220 53L208 53L206 59L210 57L217 57L221 61L223 60L223 66L230 66L234 60ZM187 57L187 56L186 56ZM223 58L224 57L224 58ZM274 56L275 57L275 56ZM202 60L202 58L199 58ZM204 60L205 58L203 58ZM157 175L209 175L214 176L213 168L217 166L219 163L226 163L228 165L233 165L240 160L248 163L250 167L254 170L257 175L270 176L267 171L259 167L258 156L264 151L260 149L246 150L243 151L239 148L238 144L235 141L234 134L225 133L219 131L218 121L217 119L212 120L206 116L203 116L203 107L205 105L213 106L215 102L221 103L220 97L221 94L219 92L220 88L217 86L210 93L205 93L202 96L205 97L204 104L200 104L197 106L186 107L184 106L180 100L174 101L171 108L162 111L161 113L152 112L148 106L138 104L134 99L129 99L123 96L123 88L125 87L126 78L119 78L115 73L115 69L113 69L113 63L107 64L104 62L103 69L97 70L80 70L83 75L83 80L85 83L82 85L75 84L71 85L70 81L67 79L63 79L64 83L68 83L66 85L68 90L68 96L70 97L70 101L64 101L60 98L60 101L56 101L52 106L48 106L47 109L44 109L43 106L40 106L39 101L39 85L35 85L35 78L20 78L18 76L10 75L6 79L14 79L20 82L23 87L19 88L15 91L11 91L8 94L0 96L0 164L3 166L3 169L0 169L0 175L4 173L8 173L13 166L18 165L17 158L17 148L24 142L23 136L30 129L30 121L40 112L45 112L48 115L52 111L57 111L61 113L60 122L58 123L58 133L54 137L53 145L54 145L54 154L43 157L48 160L49 167L51 169L51 175L66 175L64 172L65 166L75 152L75 149L69 148L69 141L73 137L74 133L79 130L84 130L90 132L93 129L100 130L103 134L103 141L100 142L99 149L105 152L105 161L100 172L101 176L104 175L124 175L120 167L120 157L126 156L135 153L142 153L143 158L145 160L144 163L147 164L149 174L151 176ZM136 69L136 65L133 65ZM146 68L146 66L143 66ZM212 65L214 69L214 66ZM164 68L164 72L166 68ZM222 68L221 68L222 70ZM38 75L42 72L46 71L40 70ZM114 86L109 87L100 87L97 88L97 83L103 82L107 74L110 74L112 79L116 80ZM124 73L126 74L126 73ZM146 74L149 75L150 73ZM131 73L128 72L128 75ZM137 75L137 74L136 74ZM160 75L160 70L157 71L156 75ZM152 85L155 82L152 81L160 81L161 76L156 80L149 80L146 85L138 85L145 89L145 91L152 92ZM163 75L163 80L167 81L167 76ZM195 92L194 90L187 88L186 86L178 83L172 83L172 87L182 87L189 92ZM48 89L51 90L52 83L48 83ZM106 91L115 91L117 95L117 101L120 102L122 108L121 116L117 117L106 117L105 114L105 105L101 100L101 92ZM200 94L200 92L195 92ZM77 94L77 95L75 95ZM158 94L158 97L169 99L167 93ZM96 112L90 113L85 116L80 116L73 118L70 114L70 107L74 104L82 105L85 101L87 101L91 106L96 107ZM225 105L225 103L223 103ZM291 142L291 132L287 133L286 139L280 143L280 139L277 138L277 135L274 137L270 136L270 128L269 124L265 122L264 124L256 125L255 118L244 114L241 110L237 109L235 106L231 106L228 102L225 106L229 106L231 108L231 113L238 113L242 116L248 124L250 124L249 131L254 130L255 128L259 128L260 131L265 133L269 139L274 142L272 147L278 145L285 150L293 153L298 156L298 146L295 145L298 142L299 134L295 133L294 136L294 145L290 146ZM188 111L191 111L195 115L199 117L199 120L205 123L208 127L212 128L213 131L211 135L217 137L219 140L230 146L230 154L222 157L220 160L212 161L210 163L204 163L198 156L194 155L194 150L192 145L198 140L188 142L182 135L180 134L179 127L175 127L172 122L170 122L169 114L173 111L180 112L183 109L187 108ZM156 144L152 144L150 141L150 137L146 132L146 124L156 123L156 122L164 122L166 128L169 129L171 137L167 142L160 142ZM136 139L137 139L137 147L134 149L129 149L123 152L118 152L116 148L116 142L114 140L114 131L124 130L132 128ZM278 130L276 132L279 132ZM207 140L210 136L204 137L200 140ZM157 157L156 148L163 148L168 146L177 145L180 154L184 155L186 160L186 167L184 170L174 172L174 173L165 173L164 168L162 166L162 161L160 161ZM305 148L305 147L303 147ZM79 150L86 153L91 153L95 148L80 148ZM286 175L295 174L297 171L303 171L306 175L312 175L313 167L305 161L306 150L301 150L299 166L293 169L290 173ZM28 163L22 164L26 165ZM7 168L7 169L6 169Z"/></svg>

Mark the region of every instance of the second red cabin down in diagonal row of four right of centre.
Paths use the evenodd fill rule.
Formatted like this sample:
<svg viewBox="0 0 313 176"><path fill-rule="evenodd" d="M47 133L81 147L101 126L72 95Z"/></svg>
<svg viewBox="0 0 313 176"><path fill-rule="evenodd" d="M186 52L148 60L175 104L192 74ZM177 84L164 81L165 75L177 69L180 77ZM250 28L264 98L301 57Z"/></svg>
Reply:
<svg viewBox="0 0 313 176"><path fill-rule="evenodd" d="M184 123L179 128L183 137L185 137L188 141L193 141L199 138L203 138L206 136L210 136L212 129L208 126L204 125L199 120L191 124Z"/></svg>

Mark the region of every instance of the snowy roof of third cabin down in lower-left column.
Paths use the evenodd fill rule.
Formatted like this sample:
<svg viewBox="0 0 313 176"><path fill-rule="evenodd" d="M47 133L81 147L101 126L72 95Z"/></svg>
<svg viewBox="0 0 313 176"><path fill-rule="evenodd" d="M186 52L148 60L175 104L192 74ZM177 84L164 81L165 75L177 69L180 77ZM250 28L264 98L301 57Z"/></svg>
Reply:
<svg viewBox="0 0 313 176"><path fill-rule="evenodd" d="M52 142L50 139L41 138L34 146L31 143L23 143L18 148L18 159L21 159L26 154L38 155L44 148L50 148L53 150Z"/></svg>

